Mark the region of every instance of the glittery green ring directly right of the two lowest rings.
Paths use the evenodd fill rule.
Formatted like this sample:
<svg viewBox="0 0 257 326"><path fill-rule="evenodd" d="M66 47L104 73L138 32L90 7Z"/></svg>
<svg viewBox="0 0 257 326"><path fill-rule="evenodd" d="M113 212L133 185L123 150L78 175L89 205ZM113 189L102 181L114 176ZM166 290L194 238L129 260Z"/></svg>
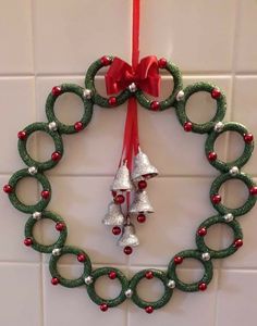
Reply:
<svg viewBox="0 0 257 326"><path fill-rule="evenodd" d="M176 264L174 263L174 258L171 260L168 266L168 277L170 279L173 279L175 281L175 287L180 289L181 291L185 292L195 292L199 291L198 286L200 283L206 283L207 285L211 281L212 275L213 275L213 267L211 261L203 261L201 259L201 252L198 250L184 250L179 252L175 256L181 256L183 259L191 258L191 259L196 259L199 261L204 267L205 267L205 273L203 278L199 281L195 281L192 284L184 283L179 279L176 276Z"/></svg>

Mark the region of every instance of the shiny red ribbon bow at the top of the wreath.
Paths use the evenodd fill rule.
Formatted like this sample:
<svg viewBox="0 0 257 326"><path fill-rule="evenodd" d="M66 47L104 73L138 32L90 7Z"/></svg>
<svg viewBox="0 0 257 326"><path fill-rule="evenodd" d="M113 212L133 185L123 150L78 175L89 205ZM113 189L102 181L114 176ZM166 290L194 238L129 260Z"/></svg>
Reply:
<svg viewBox="0 0 257 326"><path fill-rule="evenodd" d="M159 96L160 75L155 55L143 58L135 70L120 58L114 58L106 74L107 93L118 93L132 83L154 97Z"/></svg>

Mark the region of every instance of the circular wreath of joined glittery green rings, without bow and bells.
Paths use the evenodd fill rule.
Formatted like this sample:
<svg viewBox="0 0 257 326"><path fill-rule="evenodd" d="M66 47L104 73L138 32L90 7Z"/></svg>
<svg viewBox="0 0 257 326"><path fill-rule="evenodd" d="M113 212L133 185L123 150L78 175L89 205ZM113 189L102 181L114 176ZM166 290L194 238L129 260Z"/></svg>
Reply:
<svg viewBox="0 0 257 326"><path fill-rule="evenodd" d="M108 58L111 64L113 57L109 55L106 58ZM166 271L159 271L155 268L144 269L136 273L132 278L128 278L115 267L101 267L93 269L89 255L84 250L65 244L68 227L63 218L53 212L47 211L48 203L51 199L51 186L47 176L45 175L45 172L53 168L61 161L61 158L64 154L62 135L75 134L86 128L91 120L95 104L101 108L111 109L113 106L121 105L130 97L135 97L143 108L147 110L154 110L151 105L152 100L148 99L140 89L136 89L134 92L132 92L128 88L123 90L114 98L114 103L111 102L109 98L100 96L95 86L95 77L98 71L105 65L107 64L99 59L89 66L85 76L85 88L82 88L75 84L62 84L56 87L56 91L51 91L46 101L47 122L33 123L23 129L25 137L19 139L17 147L19 153L27 168L15 172L10 178L9 185L11 186L12 191L9 193L9 199L15 209L23 213L29 214L25 225L25 237L26 239L30 239L30 247L34 250L50 254L49 269L56 284L60 284L68 288L84 286L91 301L98 305L107 304L107 306L113 308L121 304L126 299L131 299L132 302L134 302L140 309L147 310L148 308L151 308L157 310L170 301L175 289L185 292L205 290L212 278L212 260L227 258L235 253L240 248L238 243L241 243L243 239L243 233L237 217L249 212L249 210L252 210L256 203L256 191L253 191L256 185L250 176L241 172L241 168L247 163L253 153L254 141L245 139L245 136L249 135L249 133L243 125L235 122L222 122L225 115L227 101L224 93L219 89L219 87L209 83L196 83L183 88L182 74L180 70L172 62L167 62L164 67L162 65L161 67L172 76L174 87L171 91L171 95L166 100L158 102L158 111L174 108L178 120L186 131L207 135L205 153L208 162L219 172L219 175L215 178L210 187L210 202L218 214L205 220L197 228L195 236L196 248L176 253L171 259ZM186 114L186 103L189 97L199 91L210 93L217 103L216 115L209 122L203 124L192 122ZM213 91L216 91L216 96L213 96ZM66 125L62 123L57 118L54 113L54 104L58 98L68 92L77 96L84 104L82 118L74 125ZM189 129L185 128L186 124L189 124ZM58 160L54 160L51 156L46 162L38 162L29 155L26 149L27 139L33 133L38 130L47 133L52 138L56 147L54 151L59 155ZM210 159L210 153L215 153L215 142L217 138L225 131L238 133L245 140L243 153L233 162L223 162L218 158L213 159L213 155L212 159ZM32 167L34 168L33 173L32 170L29 170ZM36 178L41 186L41 191L48 191L48 196L42 196L41 192L41 198L34 205L26 205L16 196L15 190L17 183L26 177ZM246 202L236 209L227 208L221 201L213 200L213 197L219 196L220 187L230 179L241 180L245 184L249 191ZM59 228L57 227L59 237L54 243L39 243L34 237L34 227L38 220L42 218L49 218L53 221L57 226L59 225ZM213 250L205 243L205 235L208 231L208 228L216 224L227 224L232 228L234 241L228 248ZM68 279L60 274L58 269L58 262L60 258L65 254L73 254L77 256L77 260L84 266L82 275L78 278ZM186 284L179 278L176 268L185 259L194 259L203 264L204 276L201 279L192 284ZM150 278L158 278L163 284L164 289L162 297L154 302L143 300L137 293L137 286L139 281L145 277L148 278L147 275L149 275L149 273L151 274ZM111 277L113 274L114 277ZM121 292L117 298L105 299L97 294L95 283L99 277L103 276L109 276L110 279L117 278L120 281Z"/></svg>

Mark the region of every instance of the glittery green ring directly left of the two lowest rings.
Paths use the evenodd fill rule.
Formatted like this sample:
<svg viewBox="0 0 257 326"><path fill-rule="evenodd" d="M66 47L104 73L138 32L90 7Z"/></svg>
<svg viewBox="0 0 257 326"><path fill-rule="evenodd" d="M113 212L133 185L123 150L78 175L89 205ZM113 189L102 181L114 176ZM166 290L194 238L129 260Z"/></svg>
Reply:
<svg viewBox="0 0 257 326"><path fill-rule="evenodd" d="M58 267L57 267L57 264L58 264L58 261L60 260L60 258L63 254L75 254L75 255L77 255L79 253L85 254L85 256L86 256L85 262L82 263L84 265L84 271L83 271L82 276L78 277L78 278L75 278L75 279L69 279L69 278L65 278L65 277L62 277L61 274L58 271ZM85 277L90 275L90 273L91 273L91 262L90 262L89 256L82 249L76 248L76 247L72 247L72 246L65 246L65 247L61 248L61 254L60 255L52 255L51 254L50 262L49 262L49 271L51 273L51 276L57 277L59 283L62 286L64 286L66 288L75 288L75 287L79 287L79 286L85 285Z"/></svg>

